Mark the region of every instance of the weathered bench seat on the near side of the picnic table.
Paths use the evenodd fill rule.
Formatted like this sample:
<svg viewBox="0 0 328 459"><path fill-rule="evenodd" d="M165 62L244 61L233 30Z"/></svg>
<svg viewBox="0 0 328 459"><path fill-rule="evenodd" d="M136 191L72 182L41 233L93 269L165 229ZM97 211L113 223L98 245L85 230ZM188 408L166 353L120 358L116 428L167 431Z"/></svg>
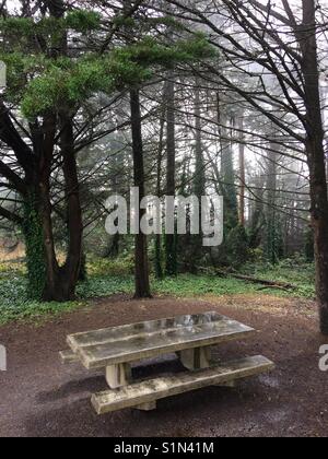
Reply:
<svg viewBox="0 0 328 459"><path fill-rule="evenodd" d="M195 373L160 377L118 390L96 393L92 404L97 414L105 414L126 408L136 408L183 392L200 389L207 386L226 385L236 379L259 375L274 368L268 358L257 355L213 366Z"/></svg>

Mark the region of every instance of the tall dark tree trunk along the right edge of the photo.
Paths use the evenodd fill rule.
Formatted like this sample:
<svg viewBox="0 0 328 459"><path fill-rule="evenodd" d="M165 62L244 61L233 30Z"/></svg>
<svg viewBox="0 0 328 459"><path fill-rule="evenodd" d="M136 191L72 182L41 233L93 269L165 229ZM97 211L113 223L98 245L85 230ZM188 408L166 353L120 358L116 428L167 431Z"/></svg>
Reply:
<svg viewBox="0 0 328 459"><path fill-rule="evenodd" d="M328 336L328 198L324 128L320 107L319 63L316 39L316 4L303 0L300 43L303 54L307 118L306 153L309 167L311 214L315 235L316 287L320 330Z"/></svg>

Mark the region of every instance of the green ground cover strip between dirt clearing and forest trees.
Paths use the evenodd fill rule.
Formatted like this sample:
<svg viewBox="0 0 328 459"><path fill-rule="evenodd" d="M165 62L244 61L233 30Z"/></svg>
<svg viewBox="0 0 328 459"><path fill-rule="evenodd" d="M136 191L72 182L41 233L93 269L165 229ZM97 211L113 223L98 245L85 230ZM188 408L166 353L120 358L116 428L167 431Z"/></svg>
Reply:
<svg viewBox="0 0 328 459"><path fill-rule="evenodd" d="M79 284L78 301L68 303L38 303L26 297L26 279L23 263L0 263L0 325L12 320L42 320L48 315L59 315L83 307L95 297L133 293L133 267L131 261L113 262L94 260L89 262L89 280ZM259 279L289 282L295 291L262 290L261 285L215 275L181 274L163 281L152 279L152 291L159 295L177 297L222 296L247 293L270 294L283 297L314 298L314 266L285 260L279 266L246 266L246 274Z"/></svg>

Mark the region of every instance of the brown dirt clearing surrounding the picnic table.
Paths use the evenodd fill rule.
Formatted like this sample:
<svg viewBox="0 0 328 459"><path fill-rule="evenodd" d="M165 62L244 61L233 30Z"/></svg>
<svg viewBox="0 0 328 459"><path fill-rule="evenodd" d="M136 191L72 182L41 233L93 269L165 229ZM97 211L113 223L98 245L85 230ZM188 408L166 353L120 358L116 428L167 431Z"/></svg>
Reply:
<svg viewBox="0 0 328 459"><path fill-rule="evenodd" d="M261 353L277 369L237 389L209 388L160 401L155 412L126 410L97 417L90 395L106 389L103 375L59 363L68 333L206 310L260 330L247 342L222 345L218 357ZM2 327L9 370L0 373L0 436L327 436L328 373L318 369L318 350L328 339L318 334L314 311L312 303L269 296L114 297L37 328ZM161 369L176 365L166 362Z"/></svg>

